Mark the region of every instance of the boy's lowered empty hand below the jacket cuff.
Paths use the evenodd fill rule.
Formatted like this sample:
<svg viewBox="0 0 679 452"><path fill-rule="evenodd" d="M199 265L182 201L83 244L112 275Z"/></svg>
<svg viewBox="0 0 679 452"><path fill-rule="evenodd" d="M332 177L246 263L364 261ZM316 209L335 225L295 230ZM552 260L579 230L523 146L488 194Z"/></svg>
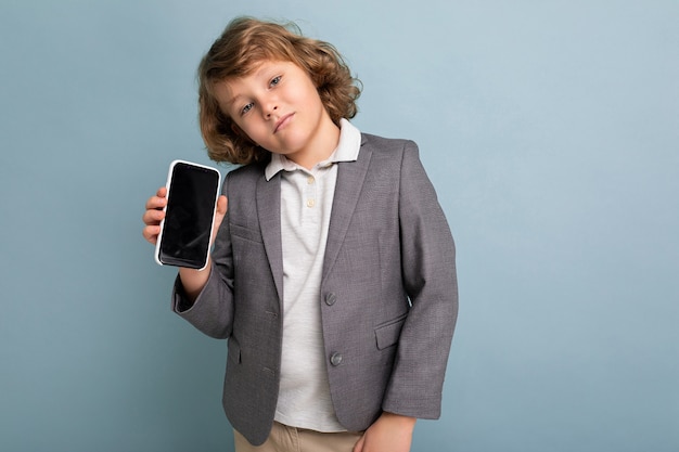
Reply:
<svg viewBox="0 0 679 452"><path fill-rule="evenodd" d="M409 452L414 427L414 417L382 413L358 440L354 452Z"/></svg>

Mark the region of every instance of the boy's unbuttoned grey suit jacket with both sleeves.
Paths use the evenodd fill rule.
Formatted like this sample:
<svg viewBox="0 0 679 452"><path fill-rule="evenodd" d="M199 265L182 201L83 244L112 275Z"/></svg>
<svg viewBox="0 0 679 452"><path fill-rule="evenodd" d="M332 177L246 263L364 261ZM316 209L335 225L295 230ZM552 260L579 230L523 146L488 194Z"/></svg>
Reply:
<svg viewBox="0 0 679 452"><path fill-rule="evenodd" d="M382 413L437 418L458 313L454 247L417 145L363 134L340 163L319 302L328 376L340 422L367 429ZM283 260L280 173L227 175L229 209L207 285L174 309L228 338L223 408L261 444L273 422L281 361Z"/></svg>

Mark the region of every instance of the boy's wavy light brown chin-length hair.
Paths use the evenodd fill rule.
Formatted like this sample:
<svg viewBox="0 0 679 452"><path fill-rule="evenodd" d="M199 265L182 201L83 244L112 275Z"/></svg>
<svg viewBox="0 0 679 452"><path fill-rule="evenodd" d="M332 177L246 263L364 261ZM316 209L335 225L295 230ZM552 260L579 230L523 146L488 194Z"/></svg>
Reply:
<svg viewBox="0 0 679 452"><path fill-rule="evenodd" d="M336 125L356 116L360 81L332 44L302 36L293 23L239 17L229 23L198 66L198 119L210 159L247 165L270 158L269 151L238 132L214 93L216 83L245 77L267 60L289 61L305 69Z"/></svg>

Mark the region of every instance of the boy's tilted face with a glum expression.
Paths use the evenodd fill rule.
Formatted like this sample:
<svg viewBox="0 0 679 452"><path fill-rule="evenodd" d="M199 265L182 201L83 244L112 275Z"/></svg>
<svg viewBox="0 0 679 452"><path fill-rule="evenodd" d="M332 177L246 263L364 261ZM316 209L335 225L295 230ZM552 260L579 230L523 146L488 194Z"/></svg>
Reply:
<svg viewBox="0 0 679 452"><path fill-rule="evenodd" d="M337 145L340 129L309 75L294 63L265 61L251 75L217 83L215 93L252 141L299 165L316 165Z"/></svg>

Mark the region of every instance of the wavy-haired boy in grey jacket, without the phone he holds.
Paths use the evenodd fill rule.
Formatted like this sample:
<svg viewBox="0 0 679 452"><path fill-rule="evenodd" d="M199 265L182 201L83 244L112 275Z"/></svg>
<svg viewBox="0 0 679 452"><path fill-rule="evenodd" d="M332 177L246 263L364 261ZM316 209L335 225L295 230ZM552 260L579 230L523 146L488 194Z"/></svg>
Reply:
<svg viewBox="0 0 679 452"><path fill-rule="evenodd" d="M233 21L198 74L208 155L243 166L225 180L212 262L179 270L172 307L229 339L236 451L409 451L415 418L439 416L458 310L417 146L358 131L337 51L283 26ZM151 243L164 206L161 189Z"/></svg>

